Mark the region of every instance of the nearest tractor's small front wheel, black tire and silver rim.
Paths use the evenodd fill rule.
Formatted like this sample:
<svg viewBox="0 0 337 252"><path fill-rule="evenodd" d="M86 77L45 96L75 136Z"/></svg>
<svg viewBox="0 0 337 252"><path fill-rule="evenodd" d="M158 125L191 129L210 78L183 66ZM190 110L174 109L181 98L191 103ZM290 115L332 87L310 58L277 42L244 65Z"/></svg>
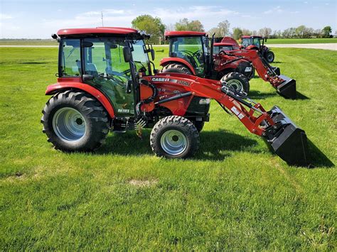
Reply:
<svg viewBox="0 0 337 252"><path fill-rule="evenodd" d="M199 144L196 126L181 116L166 116L151 131L150 145L159 157L187 158L196 153Z"/></svg>

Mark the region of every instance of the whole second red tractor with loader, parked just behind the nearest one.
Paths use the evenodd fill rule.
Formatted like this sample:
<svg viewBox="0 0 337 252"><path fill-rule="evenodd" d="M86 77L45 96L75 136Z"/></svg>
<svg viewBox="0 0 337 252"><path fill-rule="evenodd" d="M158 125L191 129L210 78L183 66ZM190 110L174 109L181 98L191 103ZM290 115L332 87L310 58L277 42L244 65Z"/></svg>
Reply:
<svg viewBox="0 0 337 252"><path fill-rule="evenodd" d="M181 72L221 80L237 91L248 94L248 79L254 76L255 68L259 67L257 72L260 77L270 82L279 94L296 98L296 81L279 76L279 68L272 67L263 57L255 55L255 50L226 53L224 50L239 49L233 38L225 37L221 43L214 43L214 38L196 31L169 31L165 36L170 42L169 57L161 60L161 72ZM220 55L220 52L223 53Z"/></svg>

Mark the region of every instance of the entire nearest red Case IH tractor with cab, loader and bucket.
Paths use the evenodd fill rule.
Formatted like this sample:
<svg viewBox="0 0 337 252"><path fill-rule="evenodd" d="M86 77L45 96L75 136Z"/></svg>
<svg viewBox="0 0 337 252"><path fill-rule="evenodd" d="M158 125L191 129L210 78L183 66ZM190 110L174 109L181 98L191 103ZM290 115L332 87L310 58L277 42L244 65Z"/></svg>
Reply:
<svg viewBox="0 0 337 252"><path fill-rule="evenodd" d="M308 165L306 133L274 106L242 97L225 83L178 73L153 74L144 33L131 28L62 29L58 81L41 123L48 141L63 151L91 151L109 131L152 128L150 145L166 158L186 158L199 148L195 121L208 121L210 99L262 136L290 165Z"/></svg>

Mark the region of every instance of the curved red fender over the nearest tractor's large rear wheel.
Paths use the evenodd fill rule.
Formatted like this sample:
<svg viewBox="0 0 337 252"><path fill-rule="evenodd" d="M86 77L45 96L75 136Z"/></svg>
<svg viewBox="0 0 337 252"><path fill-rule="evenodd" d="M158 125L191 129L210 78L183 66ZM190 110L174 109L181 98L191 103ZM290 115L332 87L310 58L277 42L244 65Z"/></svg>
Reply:
<svg viewBox="0 0 337 252"><path fill-rule="evenodd" d="M97 99L97 101L100 102L100 104L102 104L102 106L104 106L104 108L106 109L109 116L111 118L114 118L114 108L112 107L112 104L109 102L109 99L107 99L105 94L103 94L99 90L95 89L95 87L92 87L88 84L80 82L81 81L80 78L72 78L72 79L76 79L77 81L75 81L75 80L69 80L69 81L60 80L60 78L59 78L58 83L48 85L48 87L46 89L46 95L56 94L58 92L63 92L67 89L80 89L80 90L92 95L92 97L95 97Z"/></svg>

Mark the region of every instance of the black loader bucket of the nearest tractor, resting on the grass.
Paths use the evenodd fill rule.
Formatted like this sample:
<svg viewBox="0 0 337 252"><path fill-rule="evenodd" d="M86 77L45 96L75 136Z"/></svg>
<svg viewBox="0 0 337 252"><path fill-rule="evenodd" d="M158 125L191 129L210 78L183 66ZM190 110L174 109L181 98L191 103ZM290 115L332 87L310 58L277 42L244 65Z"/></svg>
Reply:
<svg viewBox="0 0 337 252"><path fill-rule="evenodd" d="M279 107L274 106L268 112L275 122L267 131L267 144L288 165L308 167L309 152L306 133L296 126Z"/></svg>

